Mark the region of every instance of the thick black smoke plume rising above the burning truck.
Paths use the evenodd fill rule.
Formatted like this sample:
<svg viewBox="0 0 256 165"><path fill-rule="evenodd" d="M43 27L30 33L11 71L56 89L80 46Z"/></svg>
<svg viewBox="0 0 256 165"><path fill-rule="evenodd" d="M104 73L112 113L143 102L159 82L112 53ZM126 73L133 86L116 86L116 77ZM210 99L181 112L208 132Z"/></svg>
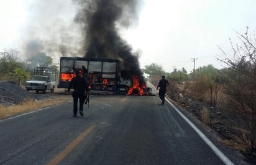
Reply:
<svg viewBox="0 0 256 165"><path fill-rule="evenodd" d="M139 53L121 37L120 28L137 20L139 0L74 0L78 5L75 22L83 25L85 57L111 58L121 61L121 70L129 71L145 84L139 66Z"/></svg>

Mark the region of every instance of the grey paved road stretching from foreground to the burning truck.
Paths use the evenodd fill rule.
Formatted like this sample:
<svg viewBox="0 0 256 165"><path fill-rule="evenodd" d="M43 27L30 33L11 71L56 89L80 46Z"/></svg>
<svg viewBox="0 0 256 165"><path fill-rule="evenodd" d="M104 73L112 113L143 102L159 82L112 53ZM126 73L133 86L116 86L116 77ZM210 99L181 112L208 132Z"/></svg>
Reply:
<svg viewBox="0 0 256 165"><path fill-rule="evenodd" d="M95 95L84 117L72 117L67 102L1 120L0 164L240 164L226 148L229 159L219 158L160 103L157 96Z"/></svg>

